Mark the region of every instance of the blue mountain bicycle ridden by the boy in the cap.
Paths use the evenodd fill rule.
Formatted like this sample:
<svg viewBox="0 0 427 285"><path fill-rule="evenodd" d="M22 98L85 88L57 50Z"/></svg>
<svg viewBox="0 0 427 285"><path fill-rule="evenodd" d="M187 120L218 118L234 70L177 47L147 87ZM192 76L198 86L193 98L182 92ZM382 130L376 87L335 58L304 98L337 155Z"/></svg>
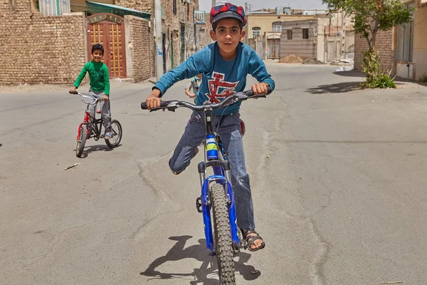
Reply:
<svg viewBox="0 0 427 285"><path fill-rule="evenodd" d="M269 90L268 93L270 92ZM230 95L220 103L206 102L204 105L197 106L185 101L170 100L162 101L159 107L150 110L152 112L167 109L174 112L176 108L186 107L204 113L206 155L205 161L198 165L201 196L196 199L196 209L203 213L206 247L212 256L216 255L220 284L236 284L233 257L241 247L246 249L247 244L240 238L238 231L236 205L231 187L230 162L221 138L214 132L212 111L249 98L260 97L265 98L265 95L253 95L252 90L247 90ZM147 103L142 103L141 108L147 110ZM208 167L212 168L214 175L206 177Z"/></svg>

